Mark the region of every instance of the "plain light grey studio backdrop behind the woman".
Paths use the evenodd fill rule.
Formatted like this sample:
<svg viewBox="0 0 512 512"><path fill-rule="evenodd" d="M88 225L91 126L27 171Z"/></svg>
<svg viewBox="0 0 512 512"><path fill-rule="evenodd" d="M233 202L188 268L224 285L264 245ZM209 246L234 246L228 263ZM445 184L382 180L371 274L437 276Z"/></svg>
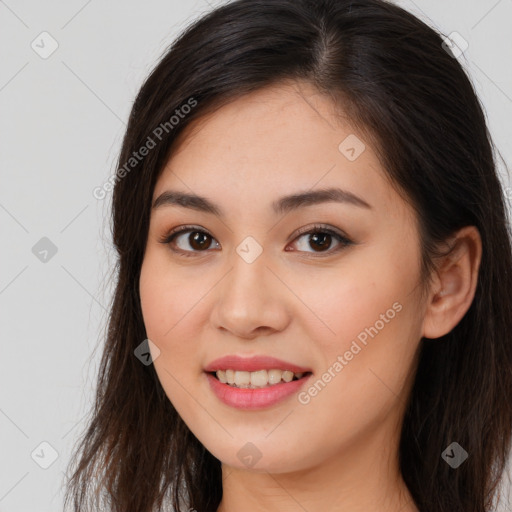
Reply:
<svg viewBox="0 0 512 512"><path fill-rule="evenodd" d="M115 172L132 102L157 59L221 3L0 1L1 512L62 510L112 293L111 193L99 200L93 190ZM459 61L510 167L512 1L397 3L467 42Z"/></svg>

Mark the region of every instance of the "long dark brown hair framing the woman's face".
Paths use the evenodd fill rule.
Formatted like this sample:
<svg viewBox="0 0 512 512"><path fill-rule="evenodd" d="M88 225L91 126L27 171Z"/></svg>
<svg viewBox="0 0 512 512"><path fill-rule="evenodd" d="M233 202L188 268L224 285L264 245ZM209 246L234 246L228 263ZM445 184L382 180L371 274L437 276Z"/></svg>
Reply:
<svg viewBox="0 0 512 512"><path fill-rule="evenodd" d="M178 134L285 80L315 85L368 134L417 213L422 283L449 235L468 225L481 234L469 310L447 335L421 340L399 460L423 512L493 509L512 435L511 236L495 148L470 80L441 34L382 0L237 0L177 38L131 111L118 161L125 172L113 192L116 289L95 407L66 493L75 512L219 505L220 461L184 424L153 365L134 356L147 338L139 275L155 182ZM195 106L184 109L191 99ZM148 138L155 147L127 168ZM457 469L441 457L453 441L469 454Z"/></svg>

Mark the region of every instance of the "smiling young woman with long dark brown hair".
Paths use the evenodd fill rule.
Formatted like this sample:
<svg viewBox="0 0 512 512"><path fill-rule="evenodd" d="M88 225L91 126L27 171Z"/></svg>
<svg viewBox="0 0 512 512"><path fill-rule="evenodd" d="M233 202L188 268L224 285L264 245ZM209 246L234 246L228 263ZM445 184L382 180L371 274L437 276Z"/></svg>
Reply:
<svg viewBox="0 0 512 512"><path fill-rule="evenodd" d="M413 15L238 0L196 21L125 134L117 288L66 503L494 510L507 221L470 81Z"/></svg>

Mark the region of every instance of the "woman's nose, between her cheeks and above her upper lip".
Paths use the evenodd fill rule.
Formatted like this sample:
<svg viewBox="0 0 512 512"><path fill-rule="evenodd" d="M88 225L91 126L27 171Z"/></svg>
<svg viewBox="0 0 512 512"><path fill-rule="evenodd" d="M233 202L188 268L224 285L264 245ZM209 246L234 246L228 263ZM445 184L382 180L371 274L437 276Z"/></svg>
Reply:
<svg viewBox="0 0 512 512"><path fill-rule="evenodd" d="M214 327L245 339L285 329L290 321L290 292L263 254L248 263L235 252L231 263L215 287Z"/></svg>

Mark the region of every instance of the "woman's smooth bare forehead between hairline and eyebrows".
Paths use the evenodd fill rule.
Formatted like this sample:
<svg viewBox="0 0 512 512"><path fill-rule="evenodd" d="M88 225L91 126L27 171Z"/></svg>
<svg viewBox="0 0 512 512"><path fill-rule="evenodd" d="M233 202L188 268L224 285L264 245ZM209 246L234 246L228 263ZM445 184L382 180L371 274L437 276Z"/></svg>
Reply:
<svg viewBox="0 0 512 512"><path fill-rule="evenodd" d="M389 209L399 197L371 143L339 112L304 83L239 97L180 133L153 199L172 187L233 206L270 205L295 190L341 187Z"/></svg>

